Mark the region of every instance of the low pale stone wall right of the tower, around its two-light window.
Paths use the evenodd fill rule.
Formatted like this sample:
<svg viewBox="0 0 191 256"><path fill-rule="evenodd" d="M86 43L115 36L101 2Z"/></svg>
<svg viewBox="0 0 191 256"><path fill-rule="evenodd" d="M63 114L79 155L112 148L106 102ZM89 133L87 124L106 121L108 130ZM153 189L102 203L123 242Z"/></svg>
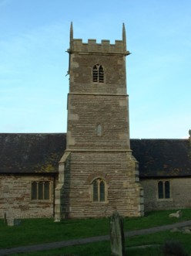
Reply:
<svg viewBox="0 0 191 256"><path fill-rule="evenodd" d="M170 198L158 198L158 182L168 180L170 183ZM144 189L145 210L168 210L191 207L191 179L141 179Z"/></svg>

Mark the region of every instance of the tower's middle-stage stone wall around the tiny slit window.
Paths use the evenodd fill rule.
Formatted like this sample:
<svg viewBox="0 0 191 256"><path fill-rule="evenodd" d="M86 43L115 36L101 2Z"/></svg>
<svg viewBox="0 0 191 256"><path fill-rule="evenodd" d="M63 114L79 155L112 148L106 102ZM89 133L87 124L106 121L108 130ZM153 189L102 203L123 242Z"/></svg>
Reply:
<svg viewBox="0 0 191 256"><path fill-rule="evenodd" d="M129 149L129 113L126 96L69 95L67 146L69 149ZM97 125L102 135L96 135Z"/></svg>

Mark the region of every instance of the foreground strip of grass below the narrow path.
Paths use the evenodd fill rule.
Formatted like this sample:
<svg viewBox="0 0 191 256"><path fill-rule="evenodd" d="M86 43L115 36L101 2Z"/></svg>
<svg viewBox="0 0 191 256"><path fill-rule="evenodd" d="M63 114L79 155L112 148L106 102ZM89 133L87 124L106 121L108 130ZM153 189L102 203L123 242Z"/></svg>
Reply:
<svg viewBox="0 0 191 256"><path fill-rule="evenodd" d="M166 241L177 241L183 246L184 251L191 255L190 234L171 233L169 230L144 236L126 237L126 255L163 256L163 244ZM110 254L110 242L104 241L49 251L12 254L12 256L108 256Z"/></svg>

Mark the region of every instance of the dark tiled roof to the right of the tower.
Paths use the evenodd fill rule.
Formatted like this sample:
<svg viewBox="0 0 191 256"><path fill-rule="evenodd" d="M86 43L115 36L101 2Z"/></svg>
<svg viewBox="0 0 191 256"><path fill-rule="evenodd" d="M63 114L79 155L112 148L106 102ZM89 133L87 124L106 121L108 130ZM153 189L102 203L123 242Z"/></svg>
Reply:
<svg viewBox="0 0 191 256"><path fill-rule="evenodd" d="M189 139L131 139L140 177L191 176Z"/></svg>

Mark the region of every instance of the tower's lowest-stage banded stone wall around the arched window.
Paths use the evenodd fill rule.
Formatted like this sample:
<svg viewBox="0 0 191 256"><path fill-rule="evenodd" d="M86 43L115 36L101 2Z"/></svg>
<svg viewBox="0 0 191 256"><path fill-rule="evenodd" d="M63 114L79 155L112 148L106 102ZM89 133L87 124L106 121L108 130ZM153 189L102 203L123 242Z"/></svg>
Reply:
<svg viewBox="0 0 191 256"><path fill-rule="evenodd" d="M114 210L122 216L141 216L143 202L135 165L131 152L71 152L62 217L106 217ZM92 202L92 181L98 177L106 180L106 202Z"/></svg>

